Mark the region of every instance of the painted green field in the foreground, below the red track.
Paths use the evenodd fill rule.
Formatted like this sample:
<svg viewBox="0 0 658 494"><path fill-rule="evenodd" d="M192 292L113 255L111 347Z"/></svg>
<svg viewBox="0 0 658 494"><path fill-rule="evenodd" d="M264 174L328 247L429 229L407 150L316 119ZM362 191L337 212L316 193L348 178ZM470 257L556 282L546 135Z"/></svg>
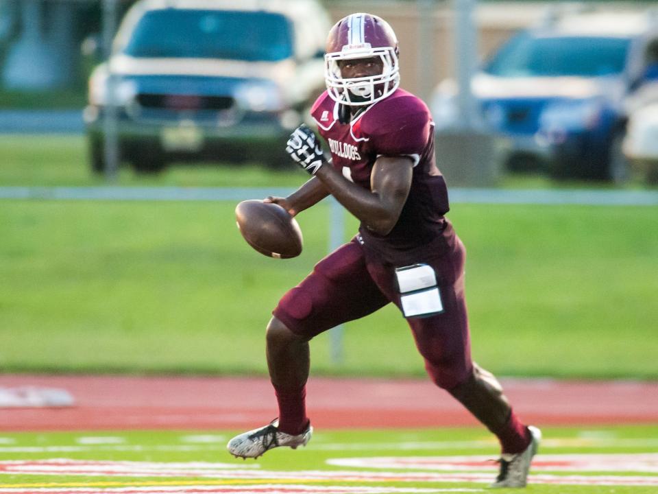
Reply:
<svg viewBox="0 0 658 494"><path fill-rule="evenodd" d="M485 492L496 475L496 444L472 428L317 431L306 448L255 462L226 452L234 432L2 434L0 492ZM646 426L546 428L527 492L655 493L657 437Z"/></svg>

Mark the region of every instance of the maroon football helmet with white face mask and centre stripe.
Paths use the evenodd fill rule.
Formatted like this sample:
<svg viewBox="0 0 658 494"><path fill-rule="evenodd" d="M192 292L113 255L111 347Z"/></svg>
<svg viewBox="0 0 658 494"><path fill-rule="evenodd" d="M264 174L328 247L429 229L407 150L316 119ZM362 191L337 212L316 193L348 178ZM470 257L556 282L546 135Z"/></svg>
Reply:
<svg viewBox="0 0 658 494"><path fill-rule="evenodd" d="M345 79L338 60L379 57L380 75ZM331 28L324 56L324 78L329 96L348 106L365 106L391 95L400 86L398 38L384 19L372 14L351 14Z"/></svg>

